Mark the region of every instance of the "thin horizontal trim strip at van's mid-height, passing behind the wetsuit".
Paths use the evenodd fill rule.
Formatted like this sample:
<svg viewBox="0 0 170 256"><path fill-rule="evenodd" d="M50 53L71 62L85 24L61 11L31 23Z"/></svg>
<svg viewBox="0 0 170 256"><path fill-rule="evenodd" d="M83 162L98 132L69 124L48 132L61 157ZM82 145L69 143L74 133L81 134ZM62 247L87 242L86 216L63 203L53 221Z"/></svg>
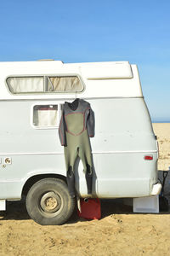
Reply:
<svg viewBox="0 0 170 256"><path fill-rule="evenodd" d="M92 151L92 154L135 154L135 153L157 153L157 150L128 150L128 151ZM62 152L36 152L36 153L0 153L1 155L39 155L39 154L64 154Z"/></svg>

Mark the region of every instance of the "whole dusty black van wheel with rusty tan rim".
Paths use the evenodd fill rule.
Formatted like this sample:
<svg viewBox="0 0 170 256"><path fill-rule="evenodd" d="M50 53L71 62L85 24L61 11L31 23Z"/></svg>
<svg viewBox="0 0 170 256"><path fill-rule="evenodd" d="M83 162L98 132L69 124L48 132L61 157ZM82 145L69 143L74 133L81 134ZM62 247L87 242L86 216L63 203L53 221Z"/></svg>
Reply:
<svg viewBox="0 0 170 256"><path fill-rule="evenodd" d="M59 178L48 177L34 183L26 196L26 209L38 224L64 224L75 208L67 185Z"/></svg>

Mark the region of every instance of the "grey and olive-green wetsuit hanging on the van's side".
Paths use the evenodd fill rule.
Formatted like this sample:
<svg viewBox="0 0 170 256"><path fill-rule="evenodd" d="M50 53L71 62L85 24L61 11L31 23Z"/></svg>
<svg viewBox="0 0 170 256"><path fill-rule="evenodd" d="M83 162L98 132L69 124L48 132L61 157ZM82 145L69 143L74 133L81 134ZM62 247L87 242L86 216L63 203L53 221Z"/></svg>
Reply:
<svg viewBox="0 0 170 256"><path fill-rule="evenodd" d="M89 137L94 137L94 112L88 102L76 99L65 102L59 123L59 139L65 146L65 166L68 189L75 196L74 165L82 160L86 175L88 195L92 194L93 164Z"/></svg>

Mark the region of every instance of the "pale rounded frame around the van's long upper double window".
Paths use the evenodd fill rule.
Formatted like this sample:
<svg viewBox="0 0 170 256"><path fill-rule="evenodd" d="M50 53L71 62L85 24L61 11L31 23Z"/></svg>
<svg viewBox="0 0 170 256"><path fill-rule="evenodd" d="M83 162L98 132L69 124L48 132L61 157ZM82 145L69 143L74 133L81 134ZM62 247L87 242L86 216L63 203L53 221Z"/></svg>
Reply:
<svg viewBox="0 0 170 256"><path fill-rule="evenodd" d="M65 77L77 77L80 81L80 83L82 84L82 90L70 90L70 91L45 91L45 89L47 88L47 85L48 85L48 79L50 77L60 77L60 78L65 78ZM11 78L43 78L43 90L42 92L37 92L37 91L32 91L32 92L20 92L20 93L12 93L10 90L9 90L9 85L8 85L8 79L11 79ZM50 80L50 79L49 79ZM59 94L77 94L77 93L82 93L84 90L85 90L85 84L84 84L84 81L82 79L82 77L77 74L77 73L71 73L71 74L46 74L46 75L40 75L40 74L29 74L29 75L8 75L8 77L6 77L5 79L5 85L6 85L6 88L8 90L8 92L10 93L10 95L12 96L31 96L31 95L59 95Z"/></svg>

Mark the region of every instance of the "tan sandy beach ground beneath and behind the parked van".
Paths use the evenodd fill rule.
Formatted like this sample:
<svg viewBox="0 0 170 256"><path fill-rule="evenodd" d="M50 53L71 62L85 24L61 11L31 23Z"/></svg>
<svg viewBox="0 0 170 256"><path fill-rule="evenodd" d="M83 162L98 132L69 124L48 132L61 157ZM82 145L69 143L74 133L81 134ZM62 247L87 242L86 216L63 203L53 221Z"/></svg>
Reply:
<svg viewBox="0 0 170 256"><path fill-rule="evenodd" d="M159 170L167 170L170 124L153 126L160 144ZM111 200L102 201L100 220L82 220L75 213L67 224L41 226L28 217L24 201L10 201L0 214L0 256L169 256L169 213L136 214L122 201Z"/></svg>

